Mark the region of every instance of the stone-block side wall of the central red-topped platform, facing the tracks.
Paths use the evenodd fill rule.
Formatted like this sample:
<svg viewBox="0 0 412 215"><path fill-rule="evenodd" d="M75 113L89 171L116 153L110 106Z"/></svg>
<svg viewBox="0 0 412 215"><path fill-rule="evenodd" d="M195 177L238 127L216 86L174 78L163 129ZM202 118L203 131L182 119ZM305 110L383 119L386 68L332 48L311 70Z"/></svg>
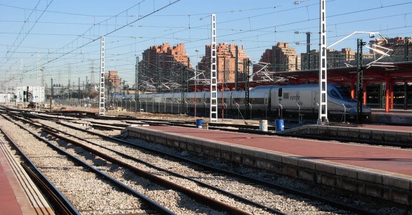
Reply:
<svg viewBox="0 0 412 215"><path fill-rule="evenodd" d="M247 147L199 137L133 127L122 130L123 137L139 138L227 162L261 168L316 184L412 206L412 177L332 161Z"/></svg>

